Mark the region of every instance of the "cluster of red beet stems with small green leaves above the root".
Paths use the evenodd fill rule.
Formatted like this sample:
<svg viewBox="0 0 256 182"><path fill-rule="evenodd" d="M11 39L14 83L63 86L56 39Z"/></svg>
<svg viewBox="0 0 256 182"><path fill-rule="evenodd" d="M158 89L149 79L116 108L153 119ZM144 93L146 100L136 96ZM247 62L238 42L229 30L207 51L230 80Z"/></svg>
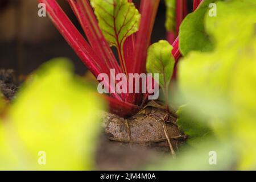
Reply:
<svg viewBox="0 0 256 182"><path fill-rule="evenodd" d="M88 42L55 0L39 0L39 2L46 3L52 22L96 78L101 73L106 73L109 78L115 77L111 74L111 69L114 69L116 74L123 73L126 76L140 75L147 71L159 73L159 81L153 80L151 86L154 88L159 84L168 103L168 84L171 81L175 63L180 57L179 38L176 39L176 37L181 20L187 14L185 1L177 1L177 5L176 1L166 1L167 15L169 15L166 23L168 38L176 39L175 41L169 39L169 42L174 42L172 46L162 41L152 45L150 49L148 47L151 44L152 29L160 0L142 0L139 10L131 0L68 0ZM194 1L195 9L199 3L200 1ZM172 6L177 7L175 17L171 16L174 8ZM175 24L175 19L176 29L172 29L170 27ZM118 61L110 46L117 49ZM165 57L164 60L159 59L163 56L162 54ZM148 79L151 77L147 77ZM105 79L101 81L110 90L110 94L104 97L108 100L110 111L113 113L129 116L146 105L150 93L118 94L112 92L115 90L115 85L109 84ZM129 89L133 87L135 90L135 85L129 83L129 80L126 82ZM117 83L118 81L115 81L115 84ZM139 90L143 90L143 87L142 84Z"/></svg>

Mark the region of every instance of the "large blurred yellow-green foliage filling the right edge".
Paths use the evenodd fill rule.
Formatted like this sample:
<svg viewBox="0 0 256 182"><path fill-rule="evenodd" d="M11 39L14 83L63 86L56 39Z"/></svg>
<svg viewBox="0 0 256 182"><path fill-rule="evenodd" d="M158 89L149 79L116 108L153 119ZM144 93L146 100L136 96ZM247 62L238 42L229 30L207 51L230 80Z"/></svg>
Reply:
<svg viewBox="0 0 256 182"><path fill-rule="evenodd" d="M204 111L214 120L214 134L236 144L239 169L255 169L256 3L216 4L216 17L205 14L205 30L215 49L192 51L181 60L179 86L194 113Z"/></svg>

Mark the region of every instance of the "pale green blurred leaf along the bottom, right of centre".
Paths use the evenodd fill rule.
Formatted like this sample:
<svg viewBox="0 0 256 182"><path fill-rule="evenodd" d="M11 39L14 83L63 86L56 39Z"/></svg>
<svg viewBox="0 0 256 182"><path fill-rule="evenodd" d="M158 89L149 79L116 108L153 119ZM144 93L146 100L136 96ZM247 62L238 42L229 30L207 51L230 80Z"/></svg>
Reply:
<svg viewBox="0 0 256 182"><path fill-rule="evenodd" d="M183 152L176 159L166 158L158 164L147 167L148 170L232 170L236 163L236 150L231 142L205 140L197 148L181 148ZM213 156L214 155L214 156ZM212 163L216 156L216 164ZM209 162L210 161L210 162Z"/></svg>

